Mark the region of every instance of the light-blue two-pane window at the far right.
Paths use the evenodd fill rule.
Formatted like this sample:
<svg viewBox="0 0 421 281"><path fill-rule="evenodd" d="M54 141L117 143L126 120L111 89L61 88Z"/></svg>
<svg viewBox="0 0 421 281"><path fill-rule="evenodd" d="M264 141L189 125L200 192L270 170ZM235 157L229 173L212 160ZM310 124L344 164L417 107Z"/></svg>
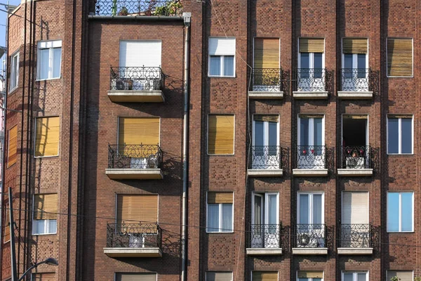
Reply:
<svg viewBox="0 0 421 281"><path fill-rule="evenodd" d="M414 231L414 193L387 192L387 232Z"/></svg>

